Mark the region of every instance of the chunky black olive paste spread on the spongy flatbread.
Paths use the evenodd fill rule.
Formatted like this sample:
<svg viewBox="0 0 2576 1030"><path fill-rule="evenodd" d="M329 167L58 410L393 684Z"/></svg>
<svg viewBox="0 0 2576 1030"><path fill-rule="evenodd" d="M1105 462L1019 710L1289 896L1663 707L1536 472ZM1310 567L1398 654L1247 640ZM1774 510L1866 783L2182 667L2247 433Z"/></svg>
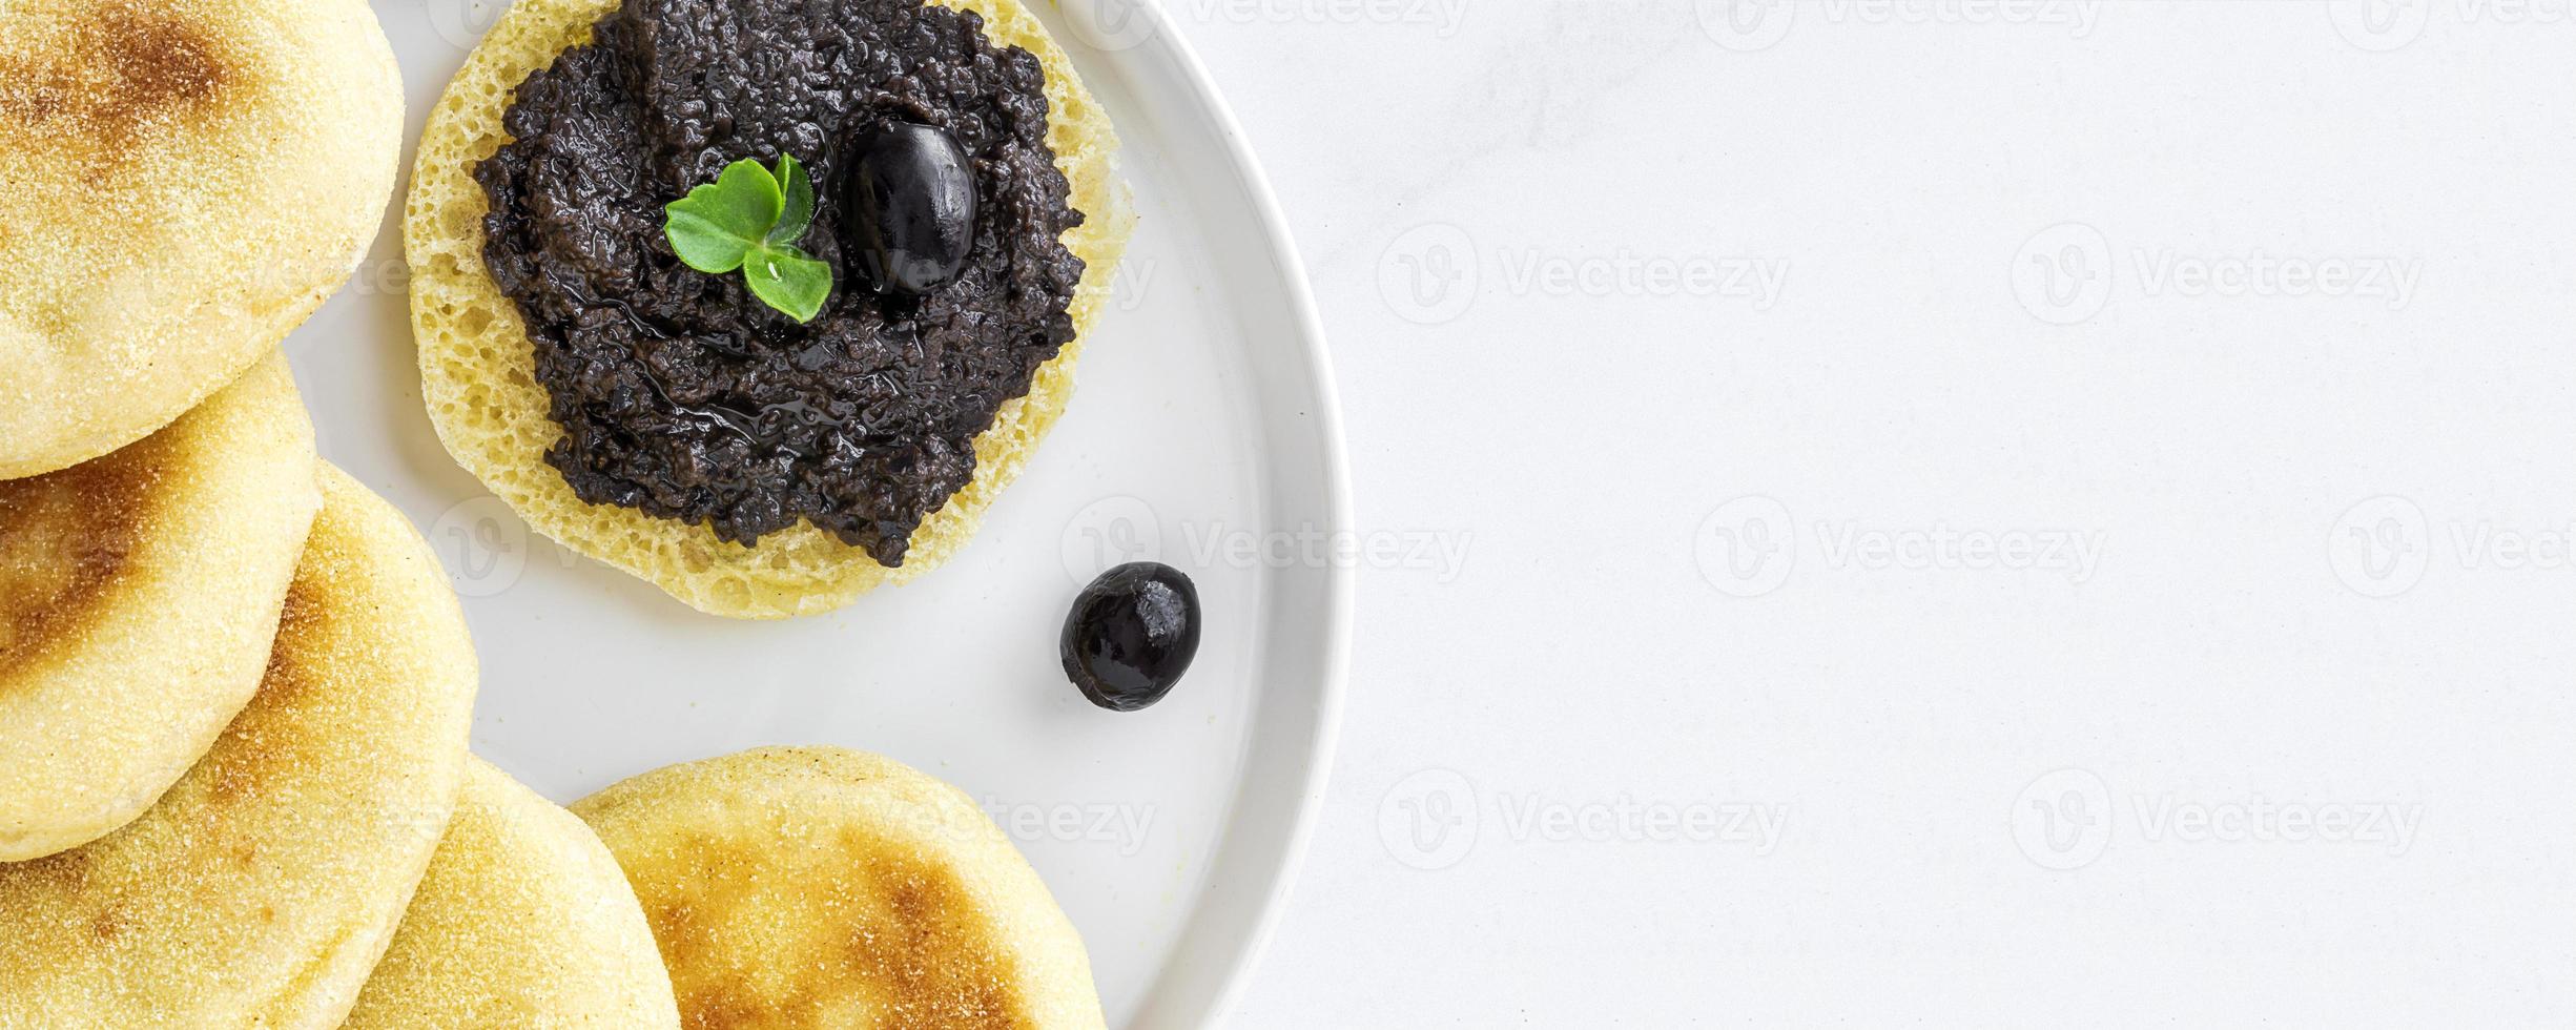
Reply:
<svg viewBox="0 0 2576 1030"><path fill-rule="evenodd" d="M974 479L974 438L1074 337L1082 224L1046 147L1046 72L920 0L626 0L518 88L474 175L484 265L518 304L564 427L546 461L592 505L755 543L811 520L884 564ZM886 121L974 157L974 255L930 296L845 258L840 152ZM683 265L662 206L724 165L809 165L801 247L832 299L799 324Z"/></svg>

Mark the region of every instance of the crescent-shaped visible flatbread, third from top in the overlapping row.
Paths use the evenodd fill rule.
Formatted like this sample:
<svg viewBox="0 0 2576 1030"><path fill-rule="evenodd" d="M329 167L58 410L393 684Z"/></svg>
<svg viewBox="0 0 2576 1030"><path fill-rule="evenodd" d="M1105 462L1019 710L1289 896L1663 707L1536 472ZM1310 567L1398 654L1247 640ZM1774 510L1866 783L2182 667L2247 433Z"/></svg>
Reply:
<svg viewBox="0 0 2576 1030"><path fill-rule="evenodd" d="M335 1027L446 832L471 708L438 559L325 469L250 708L124 829L0 865L0 1027Z"/></svg>

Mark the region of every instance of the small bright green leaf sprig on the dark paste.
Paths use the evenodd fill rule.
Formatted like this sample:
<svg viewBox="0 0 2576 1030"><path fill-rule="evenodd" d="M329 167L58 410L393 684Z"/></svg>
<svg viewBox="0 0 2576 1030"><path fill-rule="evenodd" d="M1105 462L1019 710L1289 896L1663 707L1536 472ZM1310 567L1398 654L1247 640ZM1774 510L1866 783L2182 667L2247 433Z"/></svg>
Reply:
<svg viewBox="0 0 2576 1030"><path fill-rule="evenodd" d="M778 170L737 160L714 183L662 209L662 234L688 268L708 276L742 270L752 296L796 322L814 322L832 296L832 265L796 250L814 227L814 180L793 154Z"/></svg>

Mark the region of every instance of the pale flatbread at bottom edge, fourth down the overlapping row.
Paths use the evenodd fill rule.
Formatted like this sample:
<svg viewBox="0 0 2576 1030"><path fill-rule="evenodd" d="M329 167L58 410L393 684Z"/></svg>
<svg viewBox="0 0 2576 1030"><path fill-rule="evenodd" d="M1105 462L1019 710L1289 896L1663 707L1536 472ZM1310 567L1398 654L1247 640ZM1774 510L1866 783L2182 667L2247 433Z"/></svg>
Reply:
<svg viewBox="0 0 2576 1030"><path fill-rule="evenodd" d="M343 1030L677 1030L618 860L551 801L466 760L456 819Z"/></svg>

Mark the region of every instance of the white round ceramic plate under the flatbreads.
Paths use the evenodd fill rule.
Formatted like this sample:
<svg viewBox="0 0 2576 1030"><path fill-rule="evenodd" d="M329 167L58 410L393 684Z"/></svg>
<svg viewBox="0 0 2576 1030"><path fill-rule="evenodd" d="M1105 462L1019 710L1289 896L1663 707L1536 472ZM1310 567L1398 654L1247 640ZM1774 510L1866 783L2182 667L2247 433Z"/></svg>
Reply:
<svg viewBox="0 0 2576 1030"><path fill-rule="evenodd" d="M415 134L500 10L376 3ZM392 214L289 350L325 456L402 505L466 597L477 752L556 801L760 744L894 754L989 803L1082 927L1113 1025L1195 1027L1321 801L1350 582L1311 541L1347 530L1347 476L1306 278L1234 118L1159 13L1113 10L1069 31L1041 3L1126 139L1141 224L1115 312L1028 474L912 587L729 623L531 536L420 409ZM1170 700L1113 716L1064 682L1056 631L1136 556L1198 579L1206 641Z"/></svg>

